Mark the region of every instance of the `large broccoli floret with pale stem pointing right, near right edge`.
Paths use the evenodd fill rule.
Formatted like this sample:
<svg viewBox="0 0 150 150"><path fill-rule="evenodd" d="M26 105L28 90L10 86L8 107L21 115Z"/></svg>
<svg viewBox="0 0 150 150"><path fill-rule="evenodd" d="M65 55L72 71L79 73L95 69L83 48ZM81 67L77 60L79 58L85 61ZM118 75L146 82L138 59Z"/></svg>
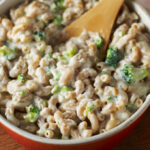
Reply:
<svg viewBox="0 0 150 150"><path fill-rule="evenodd" d="M128 84L137 83L148 76L148 71L143 68L135 68L132 65L125 65L122 69L122 78Z"/></svg>

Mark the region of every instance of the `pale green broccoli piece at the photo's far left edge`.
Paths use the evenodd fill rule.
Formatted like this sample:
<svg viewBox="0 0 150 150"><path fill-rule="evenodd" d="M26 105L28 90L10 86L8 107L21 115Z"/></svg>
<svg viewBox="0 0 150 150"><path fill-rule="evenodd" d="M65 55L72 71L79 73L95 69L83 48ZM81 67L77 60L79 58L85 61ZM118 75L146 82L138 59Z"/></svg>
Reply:
<svg viewBox="0 0 150 150"><path fill-rule="evenodd" d="M13 60L17 56L17 51L4 45L0 47L0 55L5 56L8 60Z"/></svg>

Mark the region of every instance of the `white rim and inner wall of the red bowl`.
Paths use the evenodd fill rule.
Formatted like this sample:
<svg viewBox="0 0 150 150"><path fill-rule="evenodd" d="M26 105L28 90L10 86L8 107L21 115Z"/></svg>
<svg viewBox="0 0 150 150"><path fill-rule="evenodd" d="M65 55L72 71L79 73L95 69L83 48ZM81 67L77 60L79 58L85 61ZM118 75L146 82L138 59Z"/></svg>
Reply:
<svg viewBox="0 0 150 150"><path fill-rule="evenodd" d="M2 0L0 2L0 14L3 14L6 10L8 10L10 7L13 7L14 5L22 2L24 0ZM128 4L139 14L141 17L142 22L147 26L148 30L150 31L150 15L146 10L138 5L136 2L132 2L130 0L127 0ZM26 132L24 130L19 129L18 127L14 126L10 122L8 122L3 116L0 115L0 122L8 127L10 130L16 132L17 134L24 136L28 139L31 139L33 141L38 141L42 143L47 144L57 144L57 145L74 145L74 144L84 144L87 142L93 142L97 140L102 140L107 137L111 137L112 135L120 132L121 130L125 129L129 125L131 125L135 120L137 120L150 106L150 95L147 96L144 104L125 122L118 125L117 127L113 128L109 132L96 135L93 137L90 137L88 139L76 139L76 140L57 140L57 139L46 139L43 137L39 137L37 135L33 135L29 132Z"/></svg>

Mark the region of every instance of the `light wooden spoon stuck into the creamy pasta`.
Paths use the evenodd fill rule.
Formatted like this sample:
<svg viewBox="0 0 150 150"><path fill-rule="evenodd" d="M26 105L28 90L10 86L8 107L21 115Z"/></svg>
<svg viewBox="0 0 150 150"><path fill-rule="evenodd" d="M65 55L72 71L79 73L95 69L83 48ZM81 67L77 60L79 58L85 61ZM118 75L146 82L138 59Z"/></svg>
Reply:
<svg viewBox="0 0 150 150"><path fill-rule="evenodd" d="M124 0L101 0L97 6L67 26L65 32L70 37L79 36L84 29L91 32L99 32L105 39L105 50L112 27L123 2Z"/></svg>

